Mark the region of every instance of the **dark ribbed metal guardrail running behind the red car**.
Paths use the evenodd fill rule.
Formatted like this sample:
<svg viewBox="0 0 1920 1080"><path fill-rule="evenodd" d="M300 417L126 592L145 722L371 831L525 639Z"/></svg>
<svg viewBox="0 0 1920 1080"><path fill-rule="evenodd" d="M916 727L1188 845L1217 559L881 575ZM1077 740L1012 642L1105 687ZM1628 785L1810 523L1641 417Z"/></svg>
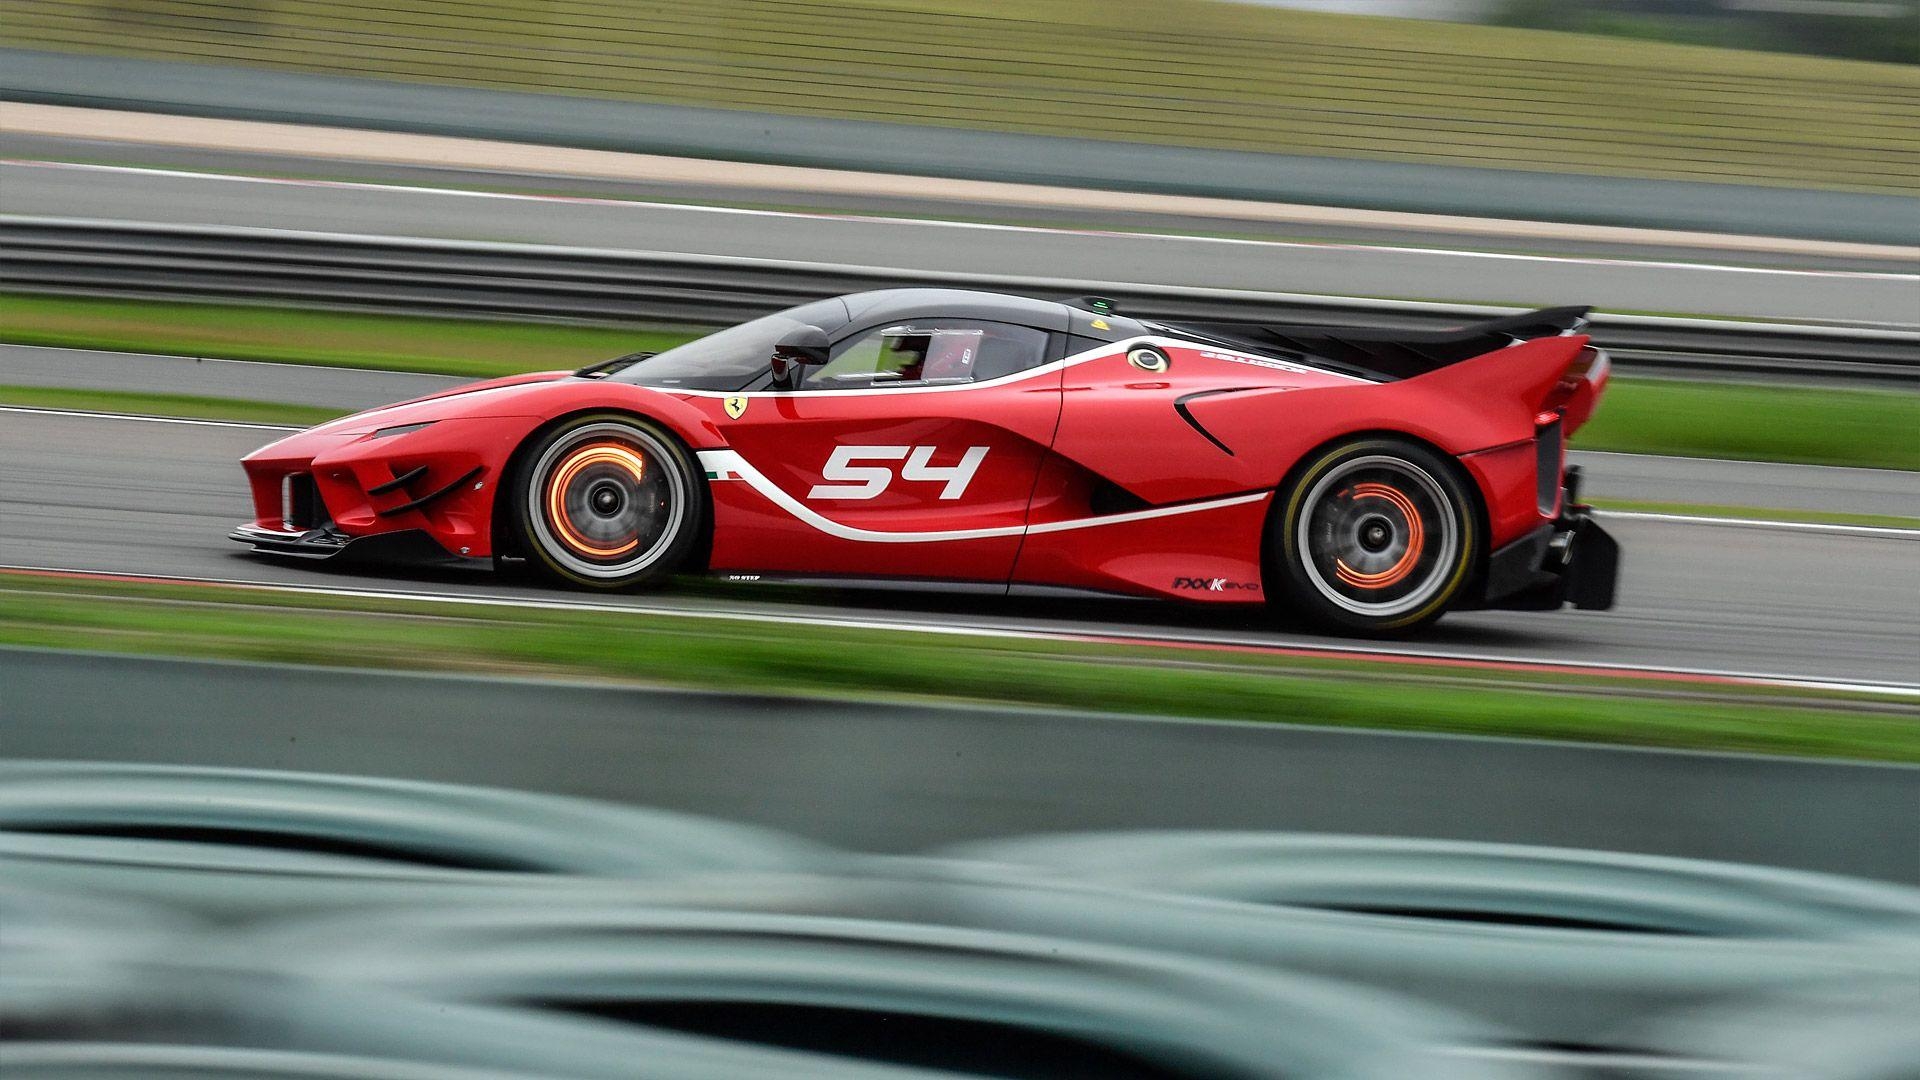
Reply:
<svg viewBox="0 0 1920 1080"><path fill-rule="evenodd" d="M902 284L1114 296L1154 319L1444 327L1511 307L927 273L676 252L620 252L0 215L0 288L718 325L804 300ZM1920 382L1920 332L1596 315L1622 369Z"/></svg>

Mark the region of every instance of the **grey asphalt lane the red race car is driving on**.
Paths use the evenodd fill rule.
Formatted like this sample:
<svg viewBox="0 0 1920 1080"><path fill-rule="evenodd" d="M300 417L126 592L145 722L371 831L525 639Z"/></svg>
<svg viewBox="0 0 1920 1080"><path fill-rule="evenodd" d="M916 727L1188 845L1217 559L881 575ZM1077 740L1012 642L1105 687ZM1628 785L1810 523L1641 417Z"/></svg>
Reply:
<svg viewBox="0 0 1920 1080"><path fill-rule="evenodd" d="M250 517L238 457L276 438L257 427L0 411L0 565L568 600L486 573L363 571L269 561L225 536ZM1818 482L1818 480L1809 480ZM1862 684L1920 684L1920 542L1676 521L1613 521L1624 546L1609 613L1463 613L1421 655L1705 669ZM1131 601L1018 601L922 594L724 594L668 588L595 598L645 609L845 617L1069 634L1342 644L1258 611Z"/></svg>

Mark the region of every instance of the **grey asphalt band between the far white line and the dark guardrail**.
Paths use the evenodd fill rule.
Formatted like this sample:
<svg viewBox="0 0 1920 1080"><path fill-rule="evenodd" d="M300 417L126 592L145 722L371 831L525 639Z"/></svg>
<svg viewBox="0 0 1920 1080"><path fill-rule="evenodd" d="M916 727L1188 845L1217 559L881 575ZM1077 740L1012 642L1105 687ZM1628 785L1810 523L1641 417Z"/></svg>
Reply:
<svg viewBox="0 0 1920 1080"><path fill-rule="evenodd" d="M0 161L0 211L1609 311L1920 323L1920 275L1016 229Z"/></svg>

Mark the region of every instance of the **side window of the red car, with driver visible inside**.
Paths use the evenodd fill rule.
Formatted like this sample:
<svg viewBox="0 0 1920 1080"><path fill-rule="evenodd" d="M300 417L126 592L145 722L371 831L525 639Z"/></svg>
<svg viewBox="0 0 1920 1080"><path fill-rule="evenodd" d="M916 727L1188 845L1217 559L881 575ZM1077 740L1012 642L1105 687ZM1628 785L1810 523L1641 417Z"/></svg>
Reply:
<svg viewBox="0 0 1920 1080"><path fill-rule="evenodd" d="M1046 331L981 319L914 319L856 334L808 373L806 390L981 382L1046 359Z"/></svg>

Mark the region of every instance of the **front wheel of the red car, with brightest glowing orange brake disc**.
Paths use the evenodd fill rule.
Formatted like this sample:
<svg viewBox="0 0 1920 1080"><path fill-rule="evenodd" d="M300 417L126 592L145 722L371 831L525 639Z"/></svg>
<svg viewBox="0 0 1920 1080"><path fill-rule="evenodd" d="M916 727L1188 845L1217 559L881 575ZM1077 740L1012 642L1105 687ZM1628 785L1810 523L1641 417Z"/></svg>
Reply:
<svg viewBox="0 0 1920 1080"><path fill-rule="evenodd" d="M540 434L505 498L526 569L582 588L643 588L685 565L707 480L666 429L591 413Z"/></svg>

